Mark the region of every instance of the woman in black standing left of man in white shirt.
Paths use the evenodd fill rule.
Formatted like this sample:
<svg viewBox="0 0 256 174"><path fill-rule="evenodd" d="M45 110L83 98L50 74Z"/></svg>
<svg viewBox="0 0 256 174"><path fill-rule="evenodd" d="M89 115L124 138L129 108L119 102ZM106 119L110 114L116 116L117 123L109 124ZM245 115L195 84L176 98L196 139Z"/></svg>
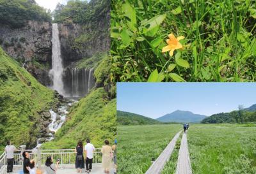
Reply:
<svg viewBox="0 0 256 174"><path fill-rule="evenodd" d="M82 141L78 141L75 152L77 173L82 173L82 169L84 168L84 148Z"/></svg>

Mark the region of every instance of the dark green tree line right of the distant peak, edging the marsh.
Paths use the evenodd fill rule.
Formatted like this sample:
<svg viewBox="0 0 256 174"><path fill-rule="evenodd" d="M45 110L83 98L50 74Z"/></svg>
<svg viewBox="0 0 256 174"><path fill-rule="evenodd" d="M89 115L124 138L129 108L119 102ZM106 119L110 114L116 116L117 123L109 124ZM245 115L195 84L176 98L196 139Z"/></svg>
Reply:
<svg viewBox="0 0 256 174"><path fill-rule="evenodd" d="M202 120L202 123L244 123L256 122L256 111L249 112L243 105L238 106L237 111L229 113L217 113Z"/></svg>

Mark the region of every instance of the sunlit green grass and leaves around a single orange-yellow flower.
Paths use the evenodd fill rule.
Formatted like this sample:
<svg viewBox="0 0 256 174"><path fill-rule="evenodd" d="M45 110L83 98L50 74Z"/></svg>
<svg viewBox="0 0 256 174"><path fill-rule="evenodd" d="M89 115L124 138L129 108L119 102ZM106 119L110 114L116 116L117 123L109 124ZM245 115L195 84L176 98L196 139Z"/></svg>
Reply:
<svg viewBox="0 0 256 174"><path fill-rule="evenodd" d="M112 80L254 82L255 34L255 0L112 0Z"/></svg>

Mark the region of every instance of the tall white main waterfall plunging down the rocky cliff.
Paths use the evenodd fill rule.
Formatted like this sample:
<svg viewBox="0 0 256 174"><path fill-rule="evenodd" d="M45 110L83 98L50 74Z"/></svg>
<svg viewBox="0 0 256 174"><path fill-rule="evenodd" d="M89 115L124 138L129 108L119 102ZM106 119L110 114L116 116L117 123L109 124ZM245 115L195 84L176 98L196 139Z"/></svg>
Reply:
<svg viewBox="0 0 256 174"><path fill-rule="evenodd" d="M61 60L58 24L52 24L52 69L49 71L49 74L52 76L52 89L65 96L62 73L63 64Z"/></svg>

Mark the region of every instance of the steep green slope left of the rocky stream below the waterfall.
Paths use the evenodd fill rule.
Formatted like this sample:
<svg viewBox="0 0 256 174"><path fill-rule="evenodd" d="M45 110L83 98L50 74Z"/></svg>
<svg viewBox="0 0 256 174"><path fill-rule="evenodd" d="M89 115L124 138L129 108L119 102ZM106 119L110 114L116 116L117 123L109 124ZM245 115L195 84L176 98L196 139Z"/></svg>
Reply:
<svg viewBox="0 0 256 174"><path fill-rule="evenodd" d="M54 92L44 87L0 48L0 149L36 141L40 113L54 105Z"/></svg>

